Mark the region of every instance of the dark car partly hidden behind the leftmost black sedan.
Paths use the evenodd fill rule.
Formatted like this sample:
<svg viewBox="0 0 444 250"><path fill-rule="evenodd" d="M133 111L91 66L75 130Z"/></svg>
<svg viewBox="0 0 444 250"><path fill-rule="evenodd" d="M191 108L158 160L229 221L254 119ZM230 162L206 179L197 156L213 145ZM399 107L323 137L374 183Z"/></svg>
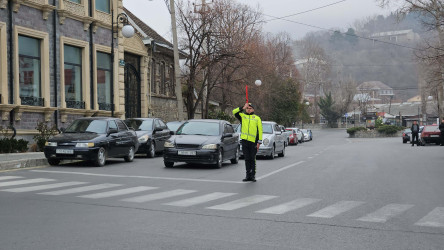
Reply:
<svg viewBox="0 0 444 250"><path fill-rule="evenodd" d="M125 120L128 127L134 128L139 140L138 154L153 158L163 152L165 141L171 137L170 130L160 118L131 118Z"/></svg>

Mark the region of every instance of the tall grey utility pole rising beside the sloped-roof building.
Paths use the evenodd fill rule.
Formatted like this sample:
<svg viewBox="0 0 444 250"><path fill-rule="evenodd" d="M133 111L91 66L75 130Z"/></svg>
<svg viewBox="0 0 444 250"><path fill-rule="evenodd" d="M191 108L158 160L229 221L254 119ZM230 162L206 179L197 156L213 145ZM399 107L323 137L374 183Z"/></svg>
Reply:
<svg viewBox="0 0 444 250"><path fill-rule="evenodd" d="M173 47L174 47L174 78L176 81L176 98L177 98L177 119L182 121L183 116L183 99L182 99L182 84L180 83L180 65L179 65L179 46L177 41L177 27L176 27L176 10L174 0L170 0L170 14L171 26L173 29Z"/></svg>

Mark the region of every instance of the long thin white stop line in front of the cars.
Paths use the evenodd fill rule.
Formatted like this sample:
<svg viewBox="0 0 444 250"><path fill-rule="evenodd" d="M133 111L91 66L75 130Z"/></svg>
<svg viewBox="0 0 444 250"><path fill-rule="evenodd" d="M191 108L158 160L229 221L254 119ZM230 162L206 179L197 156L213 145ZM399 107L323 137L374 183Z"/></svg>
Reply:
<svg viewBox="0 0 444 250"><path fill-rule="evenodd" d="M31 170L31 171L39 172L39 173L76 174L76 175L116 177L116 178L140 178L140 179L156 179L156 180L172 180L172 181L196 181L196 182L210 182L210 183L246 184L246 182L242 182L242 181L171 178L171 177L139 176L139 175L93 174L93 173L86 173L86 172L69 172L69 171L52 171L52 170Z"/></svg>

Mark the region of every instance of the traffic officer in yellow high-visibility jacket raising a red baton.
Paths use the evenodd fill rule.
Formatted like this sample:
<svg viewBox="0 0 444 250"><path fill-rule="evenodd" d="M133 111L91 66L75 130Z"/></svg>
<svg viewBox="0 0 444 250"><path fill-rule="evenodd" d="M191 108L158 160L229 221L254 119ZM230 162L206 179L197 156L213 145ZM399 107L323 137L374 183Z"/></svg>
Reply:
<svg viewBox="0 0 444 250"><path fill-rule="evenodd" d="M256 154L262 144L262 120L254 114L254 106L251 103L235 108L233 114L241 123L241 143L246 171L245 179L242 181L255 182Z"/></svg>

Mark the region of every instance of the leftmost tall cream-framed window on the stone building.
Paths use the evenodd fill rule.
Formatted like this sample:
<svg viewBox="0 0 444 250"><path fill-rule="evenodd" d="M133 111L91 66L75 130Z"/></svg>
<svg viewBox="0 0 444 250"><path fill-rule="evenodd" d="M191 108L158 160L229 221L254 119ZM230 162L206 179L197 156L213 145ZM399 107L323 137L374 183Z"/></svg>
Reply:
<svg viewBox="0 0 444 250"><path fill-rule="evenodd" d="M19 42L19 88L23 105L43 106L41 98L40 40L18 36Z"/></svg>

